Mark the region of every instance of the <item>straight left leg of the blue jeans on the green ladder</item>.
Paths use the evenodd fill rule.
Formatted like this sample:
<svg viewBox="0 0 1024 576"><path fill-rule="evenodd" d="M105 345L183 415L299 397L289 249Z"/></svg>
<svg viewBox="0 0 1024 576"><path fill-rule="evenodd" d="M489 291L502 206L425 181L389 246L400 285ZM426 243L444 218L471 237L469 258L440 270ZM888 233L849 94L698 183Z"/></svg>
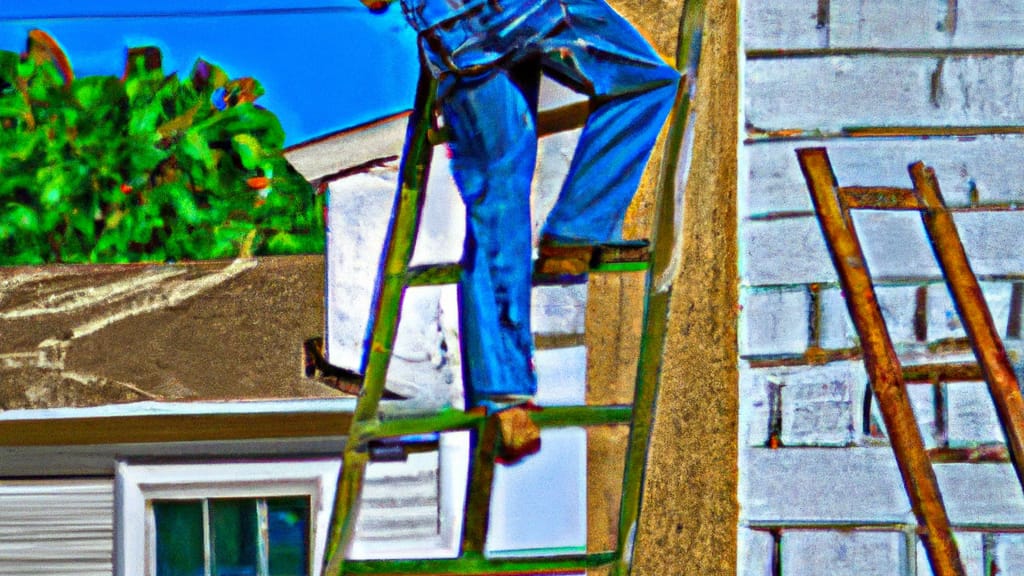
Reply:
<svg viewBox="0 0 1024 576"><path fill-rule="evenodd" d="M537 392L529 329L529 192L536 112L509 71L440 86L452 168L466 204L460 284L466 399Z"/></svg>

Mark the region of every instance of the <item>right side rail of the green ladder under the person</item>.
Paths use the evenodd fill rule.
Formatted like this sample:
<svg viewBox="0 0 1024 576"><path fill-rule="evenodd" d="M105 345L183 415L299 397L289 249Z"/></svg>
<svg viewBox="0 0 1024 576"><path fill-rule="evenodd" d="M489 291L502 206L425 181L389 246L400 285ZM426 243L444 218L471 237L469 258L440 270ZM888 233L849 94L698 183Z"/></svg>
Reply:
<svg viewBox="0 0 1024 576"><path fill-rule="evenodd" d="M696 72L700 59L700 39L705 24L703 0L684 0L679 18L676 46L676 68L683 73L676 92L669 131L665 141L658 173L653 225L650 234L651 252L644 284L643 324L637 374L633 390L633 419L630 424L623 471L623 493L620 499L617 543L612 576L630 574L633 547L639 530L640 506L647 463L647 450L654 420L655 402L668 339L669 306L677 257L676 243L676 177L680 170L687 141L692 130L691 97L696 88ZM686 186L685 181L682 186Z"/></svg>

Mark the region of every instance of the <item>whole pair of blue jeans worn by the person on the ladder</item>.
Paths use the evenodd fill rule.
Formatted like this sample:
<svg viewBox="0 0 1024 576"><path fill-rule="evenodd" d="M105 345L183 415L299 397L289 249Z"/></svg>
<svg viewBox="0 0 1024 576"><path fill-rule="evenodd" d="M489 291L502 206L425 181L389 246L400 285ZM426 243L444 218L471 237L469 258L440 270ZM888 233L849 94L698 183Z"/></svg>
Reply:
<svg viewBox="0 0 1024 576"><path fill-rule="evenodd" d="M403 8L439 79L467 210L460 284L467 402L531 396L529 193L541 72L592 100L543 228L586 243L621 238L679 74L603 0L403 0Z"/></svg>

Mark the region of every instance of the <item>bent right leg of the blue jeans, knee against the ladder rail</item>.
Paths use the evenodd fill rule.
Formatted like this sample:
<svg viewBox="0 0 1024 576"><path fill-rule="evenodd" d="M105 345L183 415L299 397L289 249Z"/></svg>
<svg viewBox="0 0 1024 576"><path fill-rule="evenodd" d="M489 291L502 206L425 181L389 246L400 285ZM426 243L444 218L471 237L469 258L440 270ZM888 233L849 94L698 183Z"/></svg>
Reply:
<svg viewBox="0 0 1024 576"><path fill-rule="evenodd" d="M544 66L589 94L596 108L544 233L564 240L617 240L672 110L679 73L603 0L568 3L566 23L542 41Z"/></svg>

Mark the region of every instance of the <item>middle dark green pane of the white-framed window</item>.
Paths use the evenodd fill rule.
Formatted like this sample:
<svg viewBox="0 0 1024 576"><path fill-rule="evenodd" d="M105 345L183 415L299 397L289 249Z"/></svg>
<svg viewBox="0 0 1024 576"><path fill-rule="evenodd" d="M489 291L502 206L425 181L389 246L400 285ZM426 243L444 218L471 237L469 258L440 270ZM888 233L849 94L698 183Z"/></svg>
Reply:
<svg viewBox="0 0 1024 576"><path fill-rule="evenodd" d="M256 500L210 500L213 576L257 576L258 534Z"/></svg>

